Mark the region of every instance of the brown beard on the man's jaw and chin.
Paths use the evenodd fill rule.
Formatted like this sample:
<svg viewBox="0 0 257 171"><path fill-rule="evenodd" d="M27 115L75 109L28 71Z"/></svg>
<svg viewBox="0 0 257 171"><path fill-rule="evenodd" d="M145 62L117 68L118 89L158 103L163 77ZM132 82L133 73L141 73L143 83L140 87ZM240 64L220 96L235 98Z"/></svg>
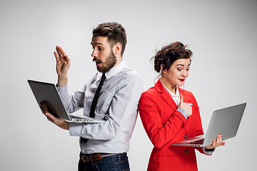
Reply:
<svg viewBox="0 0 257 171"><path fill-rule="evenodd" d="M93 61L96 61L96 58L93 59ZM108 72L111 68L114 67L114 65L117 62L117 58L114 56L114 52L111 51L109 57L106 59L105 62L101 62L102 66L96 66L97 71L100 73L106 73Z"/></svg>

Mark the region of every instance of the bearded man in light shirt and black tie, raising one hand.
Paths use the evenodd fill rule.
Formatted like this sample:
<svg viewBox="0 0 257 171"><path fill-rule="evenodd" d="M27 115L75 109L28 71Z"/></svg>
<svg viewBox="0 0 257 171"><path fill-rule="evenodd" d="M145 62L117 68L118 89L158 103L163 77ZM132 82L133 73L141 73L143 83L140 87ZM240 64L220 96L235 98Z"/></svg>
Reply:
<svg viewBox="0 0 257 171"><path fill-rule="evenodd" d="M67 88L71 60L61 47L56 46L56 86L69 113L84 108L84 115L105 122L68 123L51 115L46 105L42 110L52 123L69 130L71 136L81 137L79 170L129 170L126 152L136 123L138 100L143 92L142 81L138 73L126 66L122 57L126 31L120 24L99 24L93 31L91 45L91 56L99 72L73 95L69 95ZM104 83L98 100L95 100L100 82Z"/></svg>

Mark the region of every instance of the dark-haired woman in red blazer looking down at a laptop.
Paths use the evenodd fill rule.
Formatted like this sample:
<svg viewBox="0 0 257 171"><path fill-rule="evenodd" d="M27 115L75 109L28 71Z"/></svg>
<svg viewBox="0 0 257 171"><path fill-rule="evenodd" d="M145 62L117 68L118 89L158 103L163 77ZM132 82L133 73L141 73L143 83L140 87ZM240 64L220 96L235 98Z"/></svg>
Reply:
<svg viewBox="0 0 257 171"><path fill-rule="evenodd" d="M153 151L150 170L197 170L195 149L211 155L215 147L225 145L221 135L206 147L171 145L203 134L196 99L183 86L188 77L192 52L180 42L164 46L156 53L154 69L160 73L155 86L146 90L139 101L139 113Z"/></svg>

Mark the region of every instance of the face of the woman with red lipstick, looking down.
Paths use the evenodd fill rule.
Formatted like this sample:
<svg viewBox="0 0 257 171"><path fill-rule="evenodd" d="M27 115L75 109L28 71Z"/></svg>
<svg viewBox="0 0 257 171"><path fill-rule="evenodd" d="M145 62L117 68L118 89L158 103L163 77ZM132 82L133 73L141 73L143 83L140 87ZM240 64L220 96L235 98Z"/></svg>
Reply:
<svg viewBox="0 0 257 171"><path fill-rule="evenodd" d="M174 61L171 68L163 70L163 77L173 86L183 86L189 74L190 58L181 58Z"/></svg>

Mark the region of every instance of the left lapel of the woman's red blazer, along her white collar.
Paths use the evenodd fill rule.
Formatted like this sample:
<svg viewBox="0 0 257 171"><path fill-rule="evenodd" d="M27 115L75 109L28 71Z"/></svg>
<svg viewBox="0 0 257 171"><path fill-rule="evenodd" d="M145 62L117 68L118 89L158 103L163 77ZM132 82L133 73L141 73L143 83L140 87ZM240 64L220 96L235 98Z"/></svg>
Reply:
<svg viewBox="0 0 257 171"><path fill-rule="evenodd" d="M171 95L169 95L168 92L163 87L160 79L158 79L158 81L155 85L155 88L158 93L161 93L160 94L161 98L163 98L163 100L165 100L166 103L168 103L168 105L170 105L173 110L176 110L178 108L178 106L176 105L174 100L171 98Z"/></svg>

